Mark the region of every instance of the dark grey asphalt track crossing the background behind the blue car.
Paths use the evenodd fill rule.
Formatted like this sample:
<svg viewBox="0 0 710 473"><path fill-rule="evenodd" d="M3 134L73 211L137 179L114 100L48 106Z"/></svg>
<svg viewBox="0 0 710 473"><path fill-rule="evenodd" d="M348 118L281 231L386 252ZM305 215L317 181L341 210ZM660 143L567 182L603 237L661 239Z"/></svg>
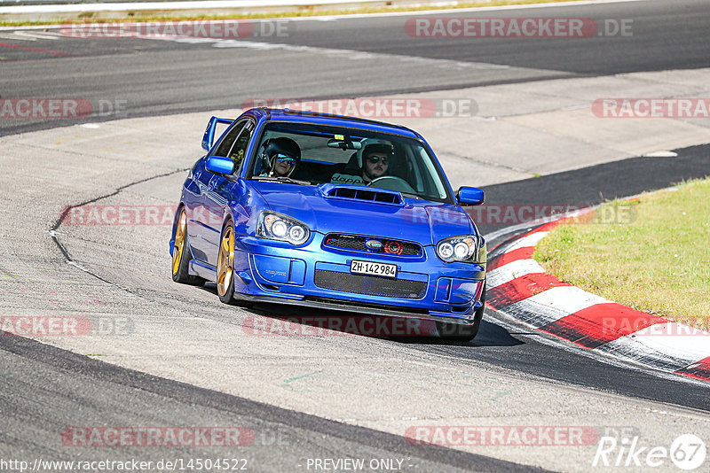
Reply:
<svg viewBox="0 0 710 473"><path fill-rule="evenodd" d="M412 15L418 16L422 15ZM453 12L427 18L456 16L491 18L501 12ZM336 23L285 21L282 35L272 33L276 30L271 27L256 26L253 36L236 40L242 46L252 43L241 48L136 38L66 38L55 30L49 33L59 39L13 41L12 35L2 37L7 31L0 31L0 97L81 97L91 101L95 113L104 100L121 104L127 116L138 117L235 108L255 97L369 97L710 66L710 9L703 0L561 4L510 10L502 16L588 18L600 24L606 19L619 24L632 20L632 35L412 37L405 30L412 17L406 15ZM323 54L265 50L264 43L327 49L334 54L324 60ZM363 57L363 53L374 56ZM407 60L412 57L419 60ZM105 115L89 120L115 119L110 109L106 106ZM56 123L4 120L0 136Z"/></svg>

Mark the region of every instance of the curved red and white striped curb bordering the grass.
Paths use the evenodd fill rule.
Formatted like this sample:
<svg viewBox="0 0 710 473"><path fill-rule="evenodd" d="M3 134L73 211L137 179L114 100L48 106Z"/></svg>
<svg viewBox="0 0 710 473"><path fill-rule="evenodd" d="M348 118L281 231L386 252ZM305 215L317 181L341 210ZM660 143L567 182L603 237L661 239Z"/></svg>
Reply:
<svg viewBox="0 0 710 473"><path fill-rule="evenodd" d="M710 333L582 291L533 260L540 240L568 220L534 229L489 262L486 305L582 348L710 381Z"/></svg>

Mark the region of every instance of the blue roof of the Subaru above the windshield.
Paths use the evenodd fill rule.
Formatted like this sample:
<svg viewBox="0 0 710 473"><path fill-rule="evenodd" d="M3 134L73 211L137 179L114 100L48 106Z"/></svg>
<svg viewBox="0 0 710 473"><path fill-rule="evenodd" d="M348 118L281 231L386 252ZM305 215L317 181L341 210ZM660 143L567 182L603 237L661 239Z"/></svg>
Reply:
<svg viewBox="0 0 710 473"><path fill-rule="evenodd" d="M400 125L392 125L391 123L385 123L383 121L347 117L344 115L265 107L253 108L244 114L253 115L257 120L297 121L299 123L312 123L314 125L333 125L336 127L360 128L383 133L391 133L394 135L409 136L415 139L423 139L422 136L414 130Z"/></svg>

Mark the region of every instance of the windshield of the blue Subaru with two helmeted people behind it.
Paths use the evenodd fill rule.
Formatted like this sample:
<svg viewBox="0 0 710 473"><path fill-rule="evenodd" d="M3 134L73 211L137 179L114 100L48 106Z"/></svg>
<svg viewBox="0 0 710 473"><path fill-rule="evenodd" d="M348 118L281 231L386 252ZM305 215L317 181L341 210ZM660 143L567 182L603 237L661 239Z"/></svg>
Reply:
<svg viewBox="0 0 710 473"><path fill-rule="evenodd" d="M440 168L422 143L358 128L267 123L249 177L306 185L366 185L410 198L453 201Z"/></svg>

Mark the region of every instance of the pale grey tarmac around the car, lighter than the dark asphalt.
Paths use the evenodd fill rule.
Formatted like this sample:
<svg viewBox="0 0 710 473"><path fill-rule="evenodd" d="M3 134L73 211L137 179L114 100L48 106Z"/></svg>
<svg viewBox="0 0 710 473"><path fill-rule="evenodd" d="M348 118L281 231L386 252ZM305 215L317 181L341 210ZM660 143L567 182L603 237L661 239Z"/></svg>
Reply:
<svg viewBox="0 0 710 473"><path fill-rule="evenodd" d="M605 120L590 106L600 97L707 97L707 84L710 70L700 69L446 90L425 96L472 98L477 114L390 121L427 138L454 188L484 186L706 143L710 120ZM169 225L61 225L54 236L67 251L67 264L49 231L63 208L88 201L176 205L185 169L201 155L209 117L239 112L129 118L0 138L3 315L99 319L106 330L36 339L397 435L416 426L548 425L597 426L600 432L602 426L629 426L659 446L670 446L679 429L710 436L706 413L660 410L643 399L407 344L357 336L249 336L245 321L254 313L220 304L213 289L171 281ZM123 329L112 330L119 322ZM577 433L568 438L585 438ZM564 471L588 471L596 453L595 445L572 440L544 448L451 446Z"/></svg>

